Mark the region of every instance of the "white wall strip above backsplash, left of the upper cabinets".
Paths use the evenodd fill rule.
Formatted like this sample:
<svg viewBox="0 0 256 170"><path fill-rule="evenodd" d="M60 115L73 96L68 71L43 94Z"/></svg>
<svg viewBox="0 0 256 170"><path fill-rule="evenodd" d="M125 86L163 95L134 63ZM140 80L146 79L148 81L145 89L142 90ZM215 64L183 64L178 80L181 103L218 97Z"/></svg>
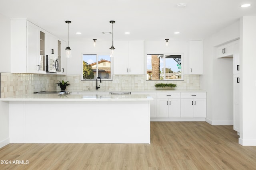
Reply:
<svg viewBox="0 0 256 170"><path fill-rule="evenodd" d="M10 72L11 70L11 26L10 18L0 14L0 72Z"/></svg>

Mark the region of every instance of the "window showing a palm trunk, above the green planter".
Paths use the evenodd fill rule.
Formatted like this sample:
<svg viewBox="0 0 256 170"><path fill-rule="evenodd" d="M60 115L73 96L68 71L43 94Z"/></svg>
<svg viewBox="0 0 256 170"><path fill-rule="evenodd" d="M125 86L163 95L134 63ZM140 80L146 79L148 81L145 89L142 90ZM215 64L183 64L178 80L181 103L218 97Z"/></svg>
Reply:
<svg viewBox="0 0 256 170"><path fill-rule="evenodd" d="M184 80L182 53L148 54L147 80Z"/></svg>

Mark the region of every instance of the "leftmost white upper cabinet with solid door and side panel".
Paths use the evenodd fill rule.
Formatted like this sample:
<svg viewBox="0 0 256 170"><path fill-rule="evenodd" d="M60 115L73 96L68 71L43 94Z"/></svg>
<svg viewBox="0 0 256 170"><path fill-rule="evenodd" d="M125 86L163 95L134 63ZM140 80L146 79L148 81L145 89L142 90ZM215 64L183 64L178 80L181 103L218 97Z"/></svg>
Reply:
<svg viewBox="0 0 256 170"><path fill-rule="evenodd" d="M41 64L40 28L26 19L12 19L11 72L46 74Z"/></svg>

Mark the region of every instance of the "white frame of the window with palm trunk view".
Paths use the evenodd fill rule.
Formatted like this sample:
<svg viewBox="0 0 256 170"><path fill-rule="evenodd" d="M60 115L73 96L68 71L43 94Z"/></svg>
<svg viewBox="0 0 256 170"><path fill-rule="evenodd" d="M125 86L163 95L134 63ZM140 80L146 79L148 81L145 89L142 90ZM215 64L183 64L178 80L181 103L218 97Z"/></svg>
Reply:
<svg viewBox="0 0 256 170"><path fill-rule="evenodd" d="M148 70L148 63L147 57L148 55L163 55L164 56L164 79L163 80L147 80L147 70ZM165 68L166 68L166 56L169 55L180 55L181 56L181 78L180 79L166 79L165 78ZM184 81L184 53L147 53L146 54L146 81Z"/></svg>

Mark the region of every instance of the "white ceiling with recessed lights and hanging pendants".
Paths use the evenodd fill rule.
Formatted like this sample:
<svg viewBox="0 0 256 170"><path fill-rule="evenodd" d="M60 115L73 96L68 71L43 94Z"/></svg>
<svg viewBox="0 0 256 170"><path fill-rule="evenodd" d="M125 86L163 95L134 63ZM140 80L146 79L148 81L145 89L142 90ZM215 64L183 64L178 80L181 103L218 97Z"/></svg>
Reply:
<svg viewBox="0 0 256 170"><path fill-rule="evenodd" d="M185 3L186 7L177 7ZM250 3L248 8L241 4ZM0 14L27 20L69 41L204 39L238 21L256 16L255 0L0 0ZM174 34L174 32L180 34ZM76 32L81 32L78 35ZM124 34L130 32L130 34Z"/></svg>

